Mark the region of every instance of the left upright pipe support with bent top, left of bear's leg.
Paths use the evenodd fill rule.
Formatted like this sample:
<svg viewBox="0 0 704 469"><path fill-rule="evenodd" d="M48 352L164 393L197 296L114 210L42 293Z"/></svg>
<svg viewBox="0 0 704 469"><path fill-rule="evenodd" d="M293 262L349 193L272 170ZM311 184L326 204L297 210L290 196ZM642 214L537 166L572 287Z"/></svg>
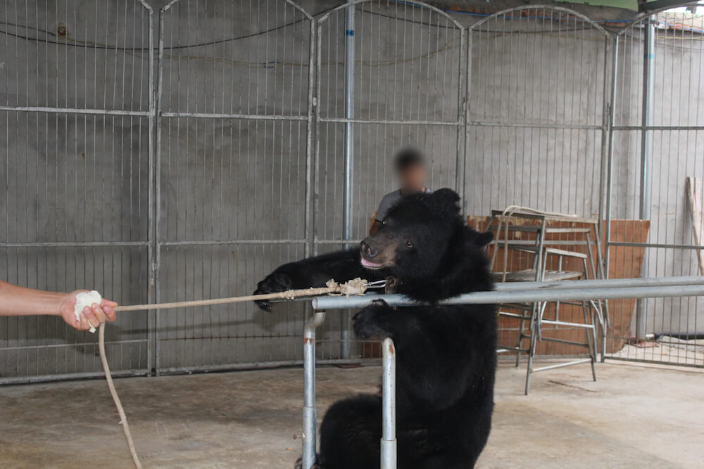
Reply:
<svg viewBox="0 0 704 469"><path fill-rule="evenodd" d="M325 311L317 311L303 329L303 469L315 464L315 329L325 321Z"/></svg>

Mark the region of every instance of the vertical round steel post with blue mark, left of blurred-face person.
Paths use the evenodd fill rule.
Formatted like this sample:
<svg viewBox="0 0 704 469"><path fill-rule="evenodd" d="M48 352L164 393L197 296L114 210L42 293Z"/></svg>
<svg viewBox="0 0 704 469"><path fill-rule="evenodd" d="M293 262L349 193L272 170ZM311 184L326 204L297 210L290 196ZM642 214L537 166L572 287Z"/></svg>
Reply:
<svg viewBox="0 0 704 469"><path fill-rule="evenodd" d="M352 0L348 0L351 3ZM345 9L345 118L354 119L354 10L350 5ZM352 182L354 158L354 127L345 122L344 150L344 194L342 197L342 236L345 241L352 238ZM345 243L345 249L349 243ZM340 315L340 358L350 356L349 311Z"/></svg>

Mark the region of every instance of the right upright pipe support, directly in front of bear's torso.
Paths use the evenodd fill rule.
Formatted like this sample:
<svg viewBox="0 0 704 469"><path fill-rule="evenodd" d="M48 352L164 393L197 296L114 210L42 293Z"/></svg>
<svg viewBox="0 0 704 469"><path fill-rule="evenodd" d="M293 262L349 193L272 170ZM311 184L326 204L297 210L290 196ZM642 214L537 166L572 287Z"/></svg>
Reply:
<svg viewBox="0 0 704 469"><path fill-rule="evenodd" d="M382 460L381 469L396 469L396 347L382 342Z"/></svg>

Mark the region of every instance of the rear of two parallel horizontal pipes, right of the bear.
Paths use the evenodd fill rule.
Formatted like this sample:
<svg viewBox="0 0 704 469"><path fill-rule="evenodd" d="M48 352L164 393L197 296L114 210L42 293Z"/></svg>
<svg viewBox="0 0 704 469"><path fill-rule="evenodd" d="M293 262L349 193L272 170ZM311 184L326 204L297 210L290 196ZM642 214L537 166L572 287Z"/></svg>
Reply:
<svg viewBox="0 0 704 469"><path fill-rule="evenodd" d="M506 282L496 283L496 291L534 290L552 288L555 290L572 288L622 288L622 287L663 287L667 285L704 285L703 276L612 278L596 280L561 280L556 282Z"/></svg>

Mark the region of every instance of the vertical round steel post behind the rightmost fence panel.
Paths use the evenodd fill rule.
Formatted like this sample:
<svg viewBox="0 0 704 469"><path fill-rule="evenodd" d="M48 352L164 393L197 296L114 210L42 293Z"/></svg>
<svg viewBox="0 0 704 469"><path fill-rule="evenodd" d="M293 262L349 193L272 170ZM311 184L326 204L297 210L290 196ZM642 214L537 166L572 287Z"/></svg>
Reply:
<svg viewBox="0 0 704 469"><path fill-rule="evenodd" d="M643 54L643 111L641 129L641 220L650 219L650 187L653 179L653 131L647 127L653 125L653 94L655 82L655 17L650 16L646 22L645 45ZM648 248L643 252L643 270L641 276L648 276ZM636 340L646 340L646 303L638 301L636 310Z"/></svg>

